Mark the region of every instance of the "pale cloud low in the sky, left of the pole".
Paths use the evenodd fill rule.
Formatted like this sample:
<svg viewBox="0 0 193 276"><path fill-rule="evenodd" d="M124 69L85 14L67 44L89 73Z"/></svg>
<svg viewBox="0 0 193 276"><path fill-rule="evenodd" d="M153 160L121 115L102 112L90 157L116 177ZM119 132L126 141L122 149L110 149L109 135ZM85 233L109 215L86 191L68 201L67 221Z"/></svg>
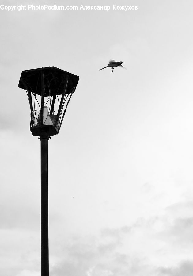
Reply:
<svg viewBox="0 0 193 276"><path fill-rule="evenodd" d="M0 229L0 274L27 275L40 271L40 233L26 229ZM24 275L24 274L21 274Z"/></svg>

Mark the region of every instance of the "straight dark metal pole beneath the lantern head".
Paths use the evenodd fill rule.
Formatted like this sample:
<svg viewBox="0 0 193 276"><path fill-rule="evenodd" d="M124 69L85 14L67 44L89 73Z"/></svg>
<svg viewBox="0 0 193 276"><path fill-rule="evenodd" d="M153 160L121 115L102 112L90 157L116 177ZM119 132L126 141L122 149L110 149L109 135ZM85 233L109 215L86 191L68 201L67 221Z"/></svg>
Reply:
<svg viewBox="0 0 193 276"><path fill-rule="evenodd" d="M47 135L41 135L41 276L49 275L48 262L48 154Z"/></svg>

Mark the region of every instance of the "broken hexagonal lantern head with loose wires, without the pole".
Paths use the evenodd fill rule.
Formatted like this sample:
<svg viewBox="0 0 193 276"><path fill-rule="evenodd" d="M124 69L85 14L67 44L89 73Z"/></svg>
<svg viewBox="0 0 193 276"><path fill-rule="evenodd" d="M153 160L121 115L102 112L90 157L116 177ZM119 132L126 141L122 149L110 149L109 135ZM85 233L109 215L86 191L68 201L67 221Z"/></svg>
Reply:
<svg viewBox="0 0 193 276"><path fill-rule="evenodd" d="M33 136L49 137L59 133L78 80L78 76L56 67L22 71L18 87L25 89L28 95Z"/></svg>

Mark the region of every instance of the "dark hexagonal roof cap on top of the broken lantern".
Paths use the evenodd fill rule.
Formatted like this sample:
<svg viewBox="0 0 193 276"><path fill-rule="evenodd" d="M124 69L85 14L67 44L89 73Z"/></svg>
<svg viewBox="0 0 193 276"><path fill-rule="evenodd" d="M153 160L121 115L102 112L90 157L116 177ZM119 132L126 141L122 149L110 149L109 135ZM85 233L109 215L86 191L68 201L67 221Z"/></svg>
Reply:
<svg viewBox="0 0 193 276"><path fill-rule="evenodd" d="M72 93L73 88L75 91L79 77L54 66L22 71L18 87L41 96L41 72L44 73L45 97L63 94L67 77L68 86L66 89L66 94Z"/></svg>

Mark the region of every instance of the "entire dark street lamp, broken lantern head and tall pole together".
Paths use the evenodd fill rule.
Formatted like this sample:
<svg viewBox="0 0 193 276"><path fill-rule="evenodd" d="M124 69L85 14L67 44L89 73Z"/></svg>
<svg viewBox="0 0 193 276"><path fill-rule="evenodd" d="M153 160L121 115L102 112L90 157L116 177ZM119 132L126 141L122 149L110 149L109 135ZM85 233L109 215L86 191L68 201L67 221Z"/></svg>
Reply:
<svg viewBox="0 0 193 276"><path fill-rule="evenodd" d="M56 67L22 71L18 87L26 90L31 111L30 131L41 148L41 276L48 263L48 140L59 133L79 77Z"/></svg>

